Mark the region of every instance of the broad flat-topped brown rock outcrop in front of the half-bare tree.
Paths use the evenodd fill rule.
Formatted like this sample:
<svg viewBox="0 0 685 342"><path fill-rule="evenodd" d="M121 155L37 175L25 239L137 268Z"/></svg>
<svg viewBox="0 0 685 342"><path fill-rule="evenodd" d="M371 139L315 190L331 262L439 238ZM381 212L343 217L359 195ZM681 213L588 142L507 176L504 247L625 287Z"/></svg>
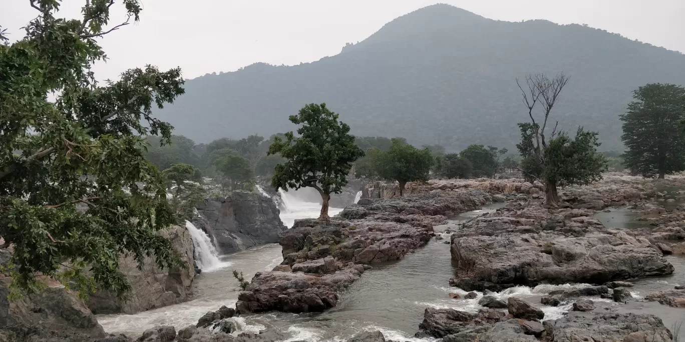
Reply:
<svg viewBox="0 0 685 342"><path fill-rule="evenodd" d="M508 207L464 223L451 237L454 286L500 291L541 282L603 284L673 273L649 239L604 227L593 211L550 211L539 203Z"/></svg>

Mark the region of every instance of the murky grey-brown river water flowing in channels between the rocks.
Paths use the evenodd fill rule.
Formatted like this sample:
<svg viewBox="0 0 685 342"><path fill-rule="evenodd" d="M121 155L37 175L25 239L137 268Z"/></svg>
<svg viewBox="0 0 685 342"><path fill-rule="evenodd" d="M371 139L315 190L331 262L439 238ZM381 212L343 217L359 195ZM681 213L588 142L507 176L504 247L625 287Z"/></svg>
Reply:
<svg viewBox="0 0 685 342"><path fill-rule="evenodd" d="M282 208L282 220L288 226L297 218L311 218L319 214L318 203L301 202L296 196L282 194L285 207ZM419 339L414 332L419 330L426 307L456 308L462 311L477 311L477 301L453 300L450 292L466 292L456 287L449 287L448 280L454 273L451 264L449 233L446 230L458 229L458 226L476 215L495 211L502 203L488 205L482 210L462 213L451 218L448 224L436 226L436 239L425 247L408 254L400 261L374 264L373 269L364 272L360 280L349 289L340 293L338 305L325 313L289 314L266 313L234 317L240 332L258 332L265 328L275 328L288 337L283 341L343 341L362 330L381 330L386 339L393 341L434 341ZM336 214L340 209L332 209ZM601 215L606 214L606 215ZM612 215L609 215L612 214ZM598 219L607 226L621 226L621 222L630 226L636 224L630 211L614 210L611 213L599 213ZM292 221L291 221L292 220ZM442 238L442 239L440 239ZM649 278L635 281L632 288L634 295L646 295L651 291L673 289L675 284L685 284L685 258L667 257L675 266L671 276ZM105 331L125 333L131 337L140 335L153 326L173 325L177 329L197 323L197 319L208 311L216 311L219 306L234 306L238 295L238 282L232 276L232 270L244 272L249 279L256 272L271 270L282 261L281 247L277 244L252 248L242 252L225 255L220 258L223 268L213 272L203 272L195 279L195 300L166 306L156 310L145 311L135 315L99 315L97 319ZM571 309L572 302L557 307L541 306L540 297L560 287L572 288L588 285L539 285L538 287L514 287L495 293L500 299L515 295L530 301L545 311L545 319L557 319ZM651 313L664 320L671 328L677 321L685 318L682 308L670 308L657 302L632 301L628 304L616 304L610 300L592 298L598 306L610 307L619 313Z"/></svg>

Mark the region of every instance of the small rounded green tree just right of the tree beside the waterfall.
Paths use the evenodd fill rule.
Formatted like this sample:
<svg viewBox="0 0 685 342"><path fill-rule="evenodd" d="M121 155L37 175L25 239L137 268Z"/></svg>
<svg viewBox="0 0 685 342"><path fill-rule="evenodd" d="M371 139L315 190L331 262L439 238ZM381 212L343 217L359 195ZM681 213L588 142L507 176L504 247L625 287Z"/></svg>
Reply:
<svg viewBox="0 0 685 342"><path fill-rule="evenodd" d="M399 139L393 139L390 150L379 150L373 155L375 174L382 179L397 181L400 196L408 182L427 181L433 166L433 156L427 148L419 150Z"/></svg>

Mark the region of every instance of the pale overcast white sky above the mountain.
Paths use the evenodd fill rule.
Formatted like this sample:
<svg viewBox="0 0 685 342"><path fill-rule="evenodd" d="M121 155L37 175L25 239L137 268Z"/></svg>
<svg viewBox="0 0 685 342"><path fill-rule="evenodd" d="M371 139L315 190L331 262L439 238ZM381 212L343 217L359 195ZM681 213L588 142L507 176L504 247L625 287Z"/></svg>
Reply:
<svg viewBox="0 0 685 342"><path fill-rule="evenodd" d="M64 0L62 16L85 0ZM117 1L121 3L121 0ZM233 71L254 62L299 64L336 55L394 18L442 2L503 21L588 24L685 51L685 0L141 0L140 23L109 34L97 78L145 64L181 66L184 76ZM117 6L112 23L123 21ZM37 15L29 0L0 0L0 25L18 39Z"/></svg>

